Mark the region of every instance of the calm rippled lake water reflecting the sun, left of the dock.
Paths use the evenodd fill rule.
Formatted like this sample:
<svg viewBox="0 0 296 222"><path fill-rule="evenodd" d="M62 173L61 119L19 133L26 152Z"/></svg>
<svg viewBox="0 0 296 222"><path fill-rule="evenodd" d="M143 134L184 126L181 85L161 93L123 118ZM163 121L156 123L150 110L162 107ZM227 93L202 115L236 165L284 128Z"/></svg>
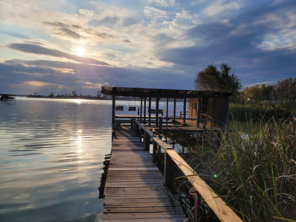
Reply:
<svg viewBox="0 0 296 222"><path fill-rule="evenodd" d="M98 187L111 150L112 101L9 102L0 102L0 221L101 221ZM140 106L116 104L124 106L118 114L136 114L128 106ZM176 110L183 110L182 102Z"/></svg>

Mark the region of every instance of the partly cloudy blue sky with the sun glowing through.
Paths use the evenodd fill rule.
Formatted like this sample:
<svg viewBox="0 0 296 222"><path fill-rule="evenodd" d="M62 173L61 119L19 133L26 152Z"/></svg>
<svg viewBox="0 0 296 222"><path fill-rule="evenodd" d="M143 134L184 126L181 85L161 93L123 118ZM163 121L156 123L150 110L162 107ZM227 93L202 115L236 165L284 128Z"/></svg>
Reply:
<svg viewBox="0 0 296 222"><path fill-rule="evenodd" d="M194 89L228 62L244 87L296 78L295 0L0 0L0 93Z"/></svg>

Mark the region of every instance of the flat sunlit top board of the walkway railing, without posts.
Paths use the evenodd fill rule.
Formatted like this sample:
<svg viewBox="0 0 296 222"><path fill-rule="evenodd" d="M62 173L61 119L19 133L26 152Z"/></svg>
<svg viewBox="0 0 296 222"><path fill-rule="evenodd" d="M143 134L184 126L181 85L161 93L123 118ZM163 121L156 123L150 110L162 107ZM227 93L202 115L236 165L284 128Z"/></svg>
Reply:
<svg viewBox="0 0 296 222"><path fill-rule="evenodd" d="M210 188L210 186L206 184L205 181L202 180L202 178L197 176L197 173L185 162L185 160L182 159L180 155L178 155L178 153L172 147L163 142L160 138L153 136L152 131L143 126L135 118L131 118L131 120L134 121L136 127L143 129L147 133L146 135L152 137L153 141L155 141L165 150L165 155L169 155L173 162L176 163L178 168L184 173L184 176L188 178L192 186L194 186L197 192L202 196L205 202L222 222L242 222L242 220L234 213L234 211L231 210L231 208L227 206L217 194L215 194L215 192Z"/></svg>

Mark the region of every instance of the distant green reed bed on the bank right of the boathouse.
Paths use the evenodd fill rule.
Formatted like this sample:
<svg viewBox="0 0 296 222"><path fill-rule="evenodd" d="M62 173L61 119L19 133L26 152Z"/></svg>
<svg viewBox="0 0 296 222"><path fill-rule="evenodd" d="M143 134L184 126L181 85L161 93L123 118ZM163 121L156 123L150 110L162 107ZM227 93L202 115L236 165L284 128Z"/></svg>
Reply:
<svg viewBox="0 0 296 222"><path fill-rule="evenodd" d="M233 104L229 105L229 118L235 120L252 120L252 119L265 119L268 120L272 117L276 119L289 118L291 110L282 104L270 103L251 103L251 104Z"/></svg>

